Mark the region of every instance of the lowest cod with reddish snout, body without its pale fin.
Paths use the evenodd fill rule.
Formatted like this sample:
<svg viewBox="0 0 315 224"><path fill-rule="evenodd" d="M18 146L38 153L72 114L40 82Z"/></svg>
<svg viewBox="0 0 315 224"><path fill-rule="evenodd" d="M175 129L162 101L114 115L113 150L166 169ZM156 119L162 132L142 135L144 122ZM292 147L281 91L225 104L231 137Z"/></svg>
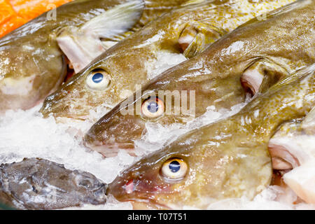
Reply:
<svg viewBox="0 0 315 224"><path fill-rule="evenodd" d="M120 174L107 190L137 208L205 209L228 198L253 199L272 181L268 142L277 127L315 106L315 64L253 98L239 113L205 125Z"/></svg>

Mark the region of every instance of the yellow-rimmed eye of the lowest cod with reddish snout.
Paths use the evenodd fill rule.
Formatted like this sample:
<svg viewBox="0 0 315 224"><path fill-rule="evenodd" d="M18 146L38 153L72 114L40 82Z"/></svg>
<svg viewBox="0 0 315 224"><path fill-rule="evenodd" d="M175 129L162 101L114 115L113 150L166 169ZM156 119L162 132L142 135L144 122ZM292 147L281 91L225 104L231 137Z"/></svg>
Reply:
<svg viewBox="0 0 315 224"><path fill-rule="evenodd" d="M172 181L179 181L186 176L188 170L187 163L179 158L167 160L162 165L162 175Z"/></svg>

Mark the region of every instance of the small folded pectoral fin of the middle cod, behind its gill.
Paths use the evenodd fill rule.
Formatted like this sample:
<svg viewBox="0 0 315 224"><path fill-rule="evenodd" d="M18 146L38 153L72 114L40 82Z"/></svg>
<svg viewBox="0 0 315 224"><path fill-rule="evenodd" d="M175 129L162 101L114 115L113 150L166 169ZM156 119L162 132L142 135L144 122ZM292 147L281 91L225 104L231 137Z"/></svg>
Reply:
<svg viewBox="0 0 315 224"><path fill-rule="evenodd" d="M286 76L288 76L288 71L283 67L265 60L258 60L244 71L241 84L248 92L255 95L257 92L264 92Z"/></svg>

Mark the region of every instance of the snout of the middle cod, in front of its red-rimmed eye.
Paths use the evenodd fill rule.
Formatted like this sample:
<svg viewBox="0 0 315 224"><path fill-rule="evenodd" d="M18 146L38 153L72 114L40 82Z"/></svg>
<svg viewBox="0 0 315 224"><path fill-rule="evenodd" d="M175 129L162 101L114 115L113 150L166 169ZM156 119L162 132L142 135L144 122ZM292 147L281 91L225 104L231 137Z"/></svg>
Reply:
<svg viewBox="0 0 315 224"><path fill-rule="evenodd" d="M134 141L141 139L144 129L141 118L116 114L94 124L85 134L84 144L104 157L116 156L120 150L134 156Z"/></svg>

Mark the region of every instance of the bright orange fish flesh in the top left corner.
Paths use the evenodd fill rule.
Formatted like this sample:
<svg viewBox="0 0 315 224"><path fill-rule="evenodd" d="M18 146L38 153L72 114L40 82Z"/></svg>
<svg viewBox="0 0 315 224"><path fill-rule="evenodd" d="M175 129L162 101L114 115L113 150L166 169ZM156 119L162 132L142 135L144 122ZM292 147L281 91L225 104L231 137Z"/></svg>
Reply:
<svg viewBox="0 0 315 224"><path fill-rule="evenodd" d="M0 2L0 38L46 11L72 0Z"/></svg>

